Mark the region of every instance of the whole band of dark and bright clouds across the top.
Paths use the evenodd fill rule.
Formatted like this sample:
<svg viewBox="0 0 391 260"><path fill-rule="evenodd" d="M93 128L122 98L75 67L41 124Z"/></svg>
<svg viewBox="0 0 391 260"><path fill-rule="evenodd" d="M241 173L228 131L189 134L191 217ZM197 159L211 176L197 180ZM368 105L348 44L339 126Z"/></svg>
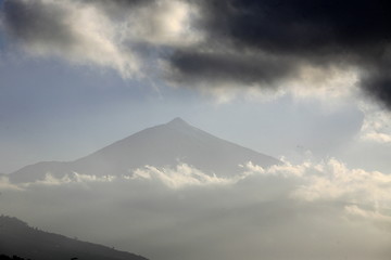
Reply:
<svg viewBox="0 0 391 260"><path fill-rule="evenodd" d="M390 108L390 9L369 0L8 0L2 28L34 55L109 67L127 78L161 75L211 92L307 92L336 69L350 70L365 93ZM316 86L305 84L314 69L321 72ZM351 84L341 81L333 92Z"/></svg>

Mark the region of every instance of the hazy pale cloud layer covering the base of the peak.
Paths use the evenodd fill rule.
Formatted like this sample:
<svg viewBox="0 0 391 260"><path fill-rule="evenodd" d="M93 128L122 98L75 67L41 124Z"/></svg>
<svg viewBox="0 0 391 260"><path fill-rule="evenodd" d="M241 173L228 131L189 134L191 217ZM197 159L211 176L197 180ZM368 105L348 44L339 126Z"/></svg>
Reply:
<svg viewBox="0 0 391 260"><path fill-rule="evenodd" d="M336 159L243 169L216 178L147 166L17 188L3 178L0 198L3 213L33 225L153 259L388 259L390 176Z"/></svg>

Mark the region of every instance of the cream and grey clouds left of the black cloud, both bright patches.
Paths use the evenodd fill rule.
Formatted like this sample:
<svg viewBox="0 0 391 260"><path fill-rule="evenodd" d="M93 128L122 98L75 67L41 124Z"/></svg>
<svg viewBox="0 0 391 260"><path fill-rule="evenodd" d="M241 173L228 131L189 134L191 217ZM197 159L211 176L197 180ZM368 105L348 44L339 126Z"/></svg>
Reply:
<svg viewBox="0 0 391 260"><path fill-rule="evenodd" d="M189 4L130 2L5 1L3 29L31 55L108 67L125 78L143 76L143 55L153 46L197 40L187 36L193 13Z"/></svg>

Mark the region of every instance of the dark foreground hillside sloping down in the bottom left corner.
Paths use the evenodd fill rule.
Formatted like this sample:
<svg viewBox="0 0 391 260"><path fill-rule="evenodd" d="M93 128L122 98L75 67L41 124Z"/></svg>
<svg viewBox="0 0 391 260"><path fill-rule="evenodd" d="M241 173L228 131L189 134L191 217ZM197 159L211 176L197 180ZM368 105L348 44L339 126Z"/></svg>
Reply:
<svg viewBox="0 0 391 260"><path fill-rule="evenodd" d="M147 260L112 248L29 227L16 218L0 217L0 255L31 260Z"/></svg>

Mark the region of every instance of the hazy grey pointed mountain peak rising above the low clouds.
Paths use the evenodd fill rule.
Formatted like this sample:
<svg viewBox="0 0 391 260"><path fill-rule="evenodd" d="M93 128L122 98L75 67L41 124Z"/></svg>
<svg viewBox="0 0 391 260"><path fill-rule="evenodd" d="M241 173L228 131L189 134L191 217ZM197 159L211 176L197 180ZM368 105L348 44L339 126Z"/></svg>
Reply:
<svg viewBox="0 0 391 260"><path fill-rule="evenodd" d="M144 129L84 158L46 161L27 166L10 176L13 182L43 179L46 173L62 177L78 172L96 176L124 176L146 165L163 167L191 165L207 174L222 177L240 172L239 165L252 161L268 167L279 160L216 138L180 118Z"/></svg>

